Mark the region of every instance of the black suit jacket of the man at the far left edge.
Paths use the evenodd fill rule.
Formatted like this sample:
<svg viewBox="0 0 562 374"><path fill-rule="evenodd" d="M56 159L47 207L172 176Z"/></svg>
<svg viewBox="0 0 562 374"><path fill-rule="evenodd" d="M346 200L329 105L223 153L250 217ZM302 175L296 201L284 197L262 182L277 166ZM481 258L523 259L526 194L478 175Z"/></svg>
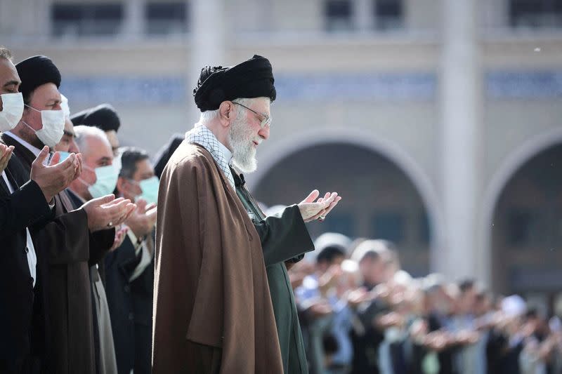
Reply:
<svg viewBox="0 0 562 374"><path fill-rule="evenodd" d="M30 354L39 354L46 337L43 312L44 257L37 253L37 279L33 288L27 264L27 234L39 229L53 218L41 189L13 155L6 175L14 193L4 178L0 178L0 373L20 373L29 365ZM34 323L32 323L34 321Z"/></svg>

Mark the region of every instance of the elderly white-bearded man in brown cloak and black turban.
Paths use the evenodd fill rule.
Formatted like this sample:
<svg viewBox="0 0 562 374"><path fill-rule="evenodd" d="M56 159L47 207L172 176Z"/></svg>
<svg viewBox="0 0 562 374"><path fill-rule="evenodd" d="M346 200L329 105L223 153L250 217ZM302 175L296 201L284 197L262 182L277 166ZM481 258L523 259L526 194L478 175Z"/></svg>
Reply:
<svg viewBox="0 0 562 374"><path fill-rule="evenodd" d="M200 121L159 189L155 374L307 372L285 262L313 250L304 222L323 220L341 198L314 190L266 217L244 187L239 172L256 169L269 138L273 82L258 55L202 69Z"/></svg>

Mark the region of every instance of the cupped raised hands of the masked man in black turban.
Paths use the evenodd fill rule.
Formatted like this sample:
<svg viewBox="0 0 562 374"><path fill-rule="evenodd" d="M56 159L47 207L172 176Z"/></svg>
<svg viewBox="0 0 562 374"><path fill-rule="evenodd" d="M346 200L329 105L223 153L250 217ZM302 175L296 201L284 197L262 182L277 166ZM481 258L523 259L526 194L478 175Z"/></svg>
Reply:
<svg viewBox="0 0 562 374"><path fill-rule="evenodd" d="M135 210L136 205L129 199L115 199L113 194L92 199L81 206L88 215L91 232L110 229L121 225Z"/></svg>

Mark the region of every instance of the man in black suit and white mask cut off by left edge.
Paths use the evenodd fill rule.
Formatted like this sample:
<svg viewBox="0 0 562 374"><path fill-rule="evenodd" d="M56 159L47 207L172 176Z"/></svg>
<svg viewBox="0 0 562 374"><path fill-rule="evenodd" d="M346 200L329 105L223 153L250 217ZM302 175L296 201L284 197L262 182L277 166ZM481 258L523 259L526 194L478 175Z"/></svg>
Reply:
<svg viewBox="0 0 562 374"><path fill-rule="evenodd" d="M17 107L17 100L8 107L6 99L10 96L5 95L18 98L19 86L20 77L11 62L11 53L6 48L0 48L2 111L11 112ZM3 121L0 130L10 130L13 123L17 124L19 119L15 117ZM77 156L56 166L44 166L42 162L47 156L48 148L44 147L32 162L31 171L26 173L18 157L12 155L5 170L0 171L1 373L34 373L41 366L41 349L38 346L42 343L46 327L40 311L43 300L39 285L43 278L41 266L37 267L40 256L38 258L35 253L31 232L53 219L53 205L50 204L53 196L70 184L79 168ZM58 156L55 157L58 159Z"/></svg>

